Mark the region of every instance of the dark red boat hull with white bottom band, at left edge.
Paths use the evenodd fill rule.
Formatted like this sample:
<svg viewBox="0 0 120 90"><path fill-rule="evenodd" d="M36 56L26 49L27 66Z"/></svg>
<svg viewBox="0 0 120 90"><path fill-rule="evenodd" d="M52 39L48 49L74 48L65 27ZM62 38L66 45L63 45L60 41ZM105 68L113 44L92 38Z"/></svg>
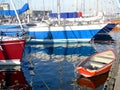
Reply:
<svg viewBox="0 0 120 90"><path fill-rule="evenodd" d="M26 40L8 36L0 39L0 65L19 65Z"/></svg>

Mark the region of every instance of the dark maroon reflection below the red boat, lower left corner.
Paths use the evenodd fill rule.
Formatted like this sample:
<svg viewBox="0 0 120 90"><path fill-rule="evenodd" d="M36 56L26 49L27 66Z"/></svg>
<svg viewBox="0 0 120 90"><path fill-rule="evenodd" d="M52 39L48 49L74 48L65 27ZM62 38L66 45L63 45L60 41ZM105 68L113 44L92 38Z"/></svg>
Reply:
<svg viewBox="0 0 120 90"><path fill-rule="evenodd" d="M20 66L0 66L0 89L30 90Z"/></svg>

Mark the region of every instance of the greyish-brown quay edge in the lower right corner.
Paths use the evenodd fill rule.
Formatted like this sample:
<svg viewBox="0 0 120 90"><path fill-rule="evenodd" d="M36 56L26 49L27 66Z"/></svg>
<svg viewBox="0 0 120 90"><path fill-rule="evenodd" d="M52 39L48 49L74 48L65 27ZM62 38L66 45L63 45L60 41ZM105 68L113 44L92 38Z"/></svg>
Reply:
<svg viewBox="0 0 120 90"><path fill-rule="evenodd" d="M120 52L111 67L103 90L120 90Z"/></svg>

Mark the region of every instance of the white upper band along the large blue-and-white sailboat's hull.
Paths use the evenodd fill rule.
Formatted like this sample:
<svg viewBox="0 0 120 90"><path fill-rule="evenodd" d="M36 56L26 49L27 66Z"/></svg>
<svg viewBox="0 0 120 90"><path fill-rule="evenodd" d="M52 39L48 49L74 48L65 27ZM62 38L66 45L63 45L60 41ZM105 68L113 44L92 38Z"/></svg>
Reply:
<svg viewBox="0 0 120 90"><path fill-rule="evenodd" d="M83 26L56 26L56 27L30 27L28 31L69 31L69 30L95 30L95 29L102 29L107 24L101 24L101 25L83 25Z"/></svg>

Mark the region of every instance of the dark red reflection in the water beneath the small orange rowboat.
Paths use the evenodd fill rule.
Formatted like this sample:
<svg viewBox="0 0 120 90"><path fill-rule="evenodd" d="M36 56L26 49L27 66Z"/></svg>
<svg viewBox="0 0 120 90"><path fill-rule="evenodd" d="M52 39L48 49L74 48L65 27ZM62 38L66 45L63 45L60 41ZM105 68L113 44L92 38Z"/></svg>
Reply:
<svg viewBox="0 0 120 90"><path fill-rule="evenodd" d="M105 83L107 77L108 72L91 78L79 77L76 82L81 88L102 90L101 86Z"/></svg>

